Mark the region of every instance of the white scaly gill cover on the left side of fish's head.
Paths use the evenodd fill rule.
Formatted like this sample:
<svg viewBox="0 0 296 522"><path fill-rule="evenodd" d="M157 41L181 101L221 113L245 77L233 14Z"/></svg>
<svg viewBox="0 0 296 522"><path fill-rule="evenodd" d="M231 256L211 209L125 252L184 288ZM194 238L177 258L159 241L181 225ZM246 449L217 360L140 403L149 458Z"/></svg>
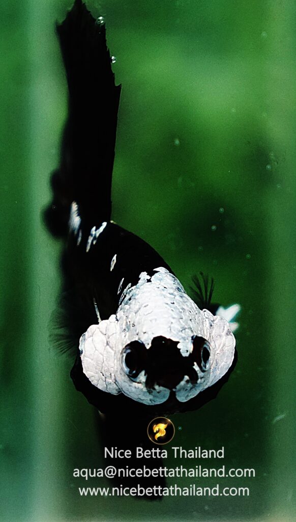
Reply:
<svg viewBox="0 0 296 522"><path fill-rule="evenodd" d="M83 373L94 386L113 395L121 393L114 375L116 328L112 315L100 324L90 326L79 343Z"/></svg>

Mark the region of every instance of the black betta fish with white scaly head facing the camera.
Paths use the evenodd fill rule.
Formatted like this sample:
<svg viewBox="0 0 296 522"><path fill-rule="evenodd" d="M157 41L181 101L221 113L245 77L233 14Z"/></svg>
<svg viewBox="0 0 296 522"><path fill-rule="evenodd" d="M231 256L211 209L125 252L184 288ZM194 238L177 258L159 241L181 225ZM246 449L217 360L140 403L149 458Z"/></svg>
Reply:
<svg viewBox="0 0 296 522"><path fill-rule="evenodd" d="M199 408L236 363L239 305L211 304L213 280L202 273L191 299L152 246L112 221L121 87L105 23L76 0L57 33L68 118L45 221L64 242L60 321L75 353L72 380L103 413Z"/></svg>

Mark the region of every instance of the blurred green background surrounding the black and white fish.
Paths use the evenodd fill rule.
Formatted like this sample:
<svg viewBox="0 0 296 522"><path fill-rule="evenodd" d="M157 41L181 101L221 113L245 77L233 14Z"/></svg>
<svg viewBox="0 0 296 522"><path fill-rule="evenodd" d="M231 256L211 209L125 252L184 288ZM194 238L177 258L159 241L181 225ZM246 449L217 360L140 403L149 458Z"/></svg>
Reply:
<svg viewBox="0 0 296 522"><path fill-rule="evenodd" d="M73 468L102 465L100 440L93 408L70 381L72 361L48 341L60 245L41 221L66 117L54 25L71 2L8 0L0 6L1 520L295 520L296 5L88 6L105 17L122 84L113 219L151 243L187 289L203 270L215 279L215 301L242 306L236 370L216 400L172 418L174 445L224 445L226 466L253 467L256 477L225 482L250 487L250 497L79 496Z"/></svg>

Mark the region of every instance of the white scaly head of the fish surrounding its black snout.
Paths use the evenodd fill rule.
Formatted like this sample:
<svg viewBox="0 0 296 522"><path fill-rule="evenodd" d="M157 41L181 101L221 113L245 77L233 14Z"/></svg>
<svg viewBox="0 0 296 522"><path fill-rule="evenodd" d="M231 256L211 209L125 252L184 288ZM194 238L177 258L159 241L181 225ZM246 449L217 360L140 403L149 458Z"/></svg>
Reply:
<svg viewBox="0 0 296 522"><path fill-rule="evenodd" d="M143 404L156 405L165 402L173 389L177 400L186 402L225 375L235 354L235 337L226 319L200 310L167 269L154 272L152 277L142 272L139 282L122 293L116 315L90 326L81 336L82 368L104 392L124 393ZM190 358L195 336L205 340L199 364ZM196 378L185 374L173 388L157 382L147 387L145 369L135 375L130 371L126 358L131 343L140 341L139 346L149 350L158 337L175 341L172 344L187 358L185 363L191 361L191 374L196 372ZM203 350L206 357L202 357Z"/></svg>

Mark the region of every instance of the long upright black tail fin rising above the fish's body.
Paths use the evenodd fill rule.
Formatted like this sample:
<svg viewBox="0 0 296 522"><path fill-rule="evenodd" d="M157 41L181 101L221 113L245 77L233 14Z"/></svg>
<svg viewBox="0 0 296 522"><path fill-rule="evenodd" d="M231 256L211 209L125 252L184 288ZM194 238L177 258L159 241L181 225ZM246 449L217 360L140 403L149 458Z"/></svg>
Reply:
<svg viewBox="0 0 296 522"><path fill-rule="evenodd" d="M96 21L82 0L57 25L57 34L67 75L68 120L45 221L54 235L66 236L72 201L83 229L110 219L120 86L115 85L104 22Z"/></svg>

